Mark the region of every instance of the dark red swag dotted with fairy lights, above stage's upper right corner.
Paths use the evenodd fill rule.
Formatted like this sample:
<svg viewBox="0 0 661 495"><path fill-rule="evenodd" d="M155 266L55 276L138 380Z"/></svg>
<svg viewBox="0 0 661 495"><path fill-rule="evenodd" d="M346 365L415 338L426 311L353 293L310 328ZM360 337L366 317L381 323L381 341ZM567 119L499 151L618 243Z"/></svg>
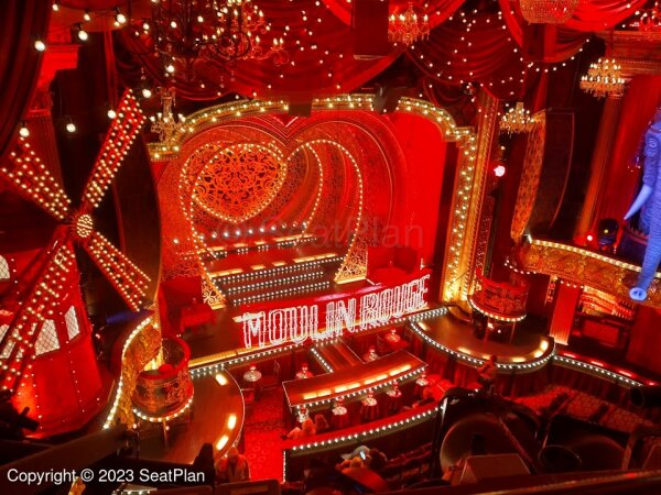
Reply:
<svg viewBox="0 0 661 495"><path fill-rule="evenodd" d="M524 64L520 48L495 12L454 15L407 55L435 80L452 85L478 81L502 99L521 92Z"/></svg>

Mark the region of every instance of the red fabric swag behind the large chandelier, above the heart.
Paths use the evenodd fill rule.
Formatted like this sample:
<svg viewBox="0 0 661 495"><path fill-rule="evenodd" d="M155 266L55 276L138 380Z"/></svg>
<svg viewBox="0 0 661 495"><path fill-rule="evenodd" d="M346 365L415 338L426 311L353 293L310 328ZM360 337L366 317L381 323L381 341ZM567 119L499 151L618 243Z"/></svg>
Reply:
<svg viewBox="0 0 661 495"><path fill-rule="evenodd" d="M177 95L208 100L217 99L218 91L248 97L257 95L258 98L269 98L275 94L279 98L286 99L290 96L295 100L311 94L316 97L349 92L381 73L403 51L401 47L393 48L382 58L356 61L353 56L354 33L323 3L317 7L314 0L262 0L259 7L272 26L270 33L262 36L262 44L267 47L273 37L282 36L291 56L290 63L275 66L270 59L252 59L216 65L199 61L195 65L196 72L217 86L207 84L206 92L201 91L198 80L186 80L182 74L175 78ZM302 11L305 11L305 21ZM289 26L289 31L285 26ZM122 30L121 41L140 58L148 74L163 84L160 61L153 56L145 40L136 37L129 31Z"/></svg>

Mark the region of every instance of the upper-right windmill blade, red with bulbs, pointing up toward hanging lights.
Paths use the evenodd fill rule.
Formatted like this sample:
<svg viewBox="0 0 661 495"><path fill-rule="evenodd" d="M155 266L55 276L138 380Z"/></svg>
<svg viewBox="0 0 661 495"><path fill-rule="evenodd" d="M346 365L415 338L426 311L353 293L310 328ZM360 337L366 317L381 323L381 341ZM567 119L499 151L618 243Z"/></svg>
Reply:
<svg viewBox="0 0 661 495"><path fill-rule="evenodd" d="M130 90L121 98L117 117L110 124L106 141L99 151L94 169L83 193L83 209L90 211L101 202L115 174L121 166L129 147L136 140L145 117Z"/></svg>

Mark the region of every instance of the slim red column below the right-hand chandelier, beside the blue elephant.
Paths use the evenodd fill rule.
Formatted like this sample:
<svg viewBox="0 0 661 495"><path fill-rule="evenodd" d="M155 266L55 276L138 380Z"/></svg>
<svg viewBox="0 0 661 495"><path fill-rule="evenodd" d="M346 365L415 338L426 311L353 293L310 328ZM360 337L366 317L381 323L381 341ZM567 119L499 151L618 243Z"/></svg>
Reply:
<svg viewBox="0 0 661 495"><path fill-rule="evenodd" d="M618 131L622 100L624 95L609 95L604 103L604 112L602 113L592 157L589 183L587 185L583 210L581 211L581 217L574 232L575 237L590 232L598 221L595 217L598 213L598 206L605 183L604 178L607 175L607 166L610 163L610 155L613 153L613 143L615 143Z"/></svg>

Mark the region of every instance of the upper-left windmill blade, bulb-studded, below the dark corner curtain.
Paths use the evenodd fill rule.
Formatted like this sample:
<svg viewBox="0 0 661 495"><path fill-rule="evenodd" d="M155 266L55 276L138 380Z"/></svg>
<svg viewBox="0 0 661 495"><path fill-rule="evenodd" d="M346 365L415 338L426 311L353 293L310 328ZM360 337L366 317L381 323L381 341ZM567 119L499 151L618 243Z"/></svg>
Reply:
<svg viewBox="0 0 661 495"><path fill-rule="evenodd" d="M17 148L0 167L0 176L56 219L68 216L71 200L25 139L19 138Z"/></svg>

